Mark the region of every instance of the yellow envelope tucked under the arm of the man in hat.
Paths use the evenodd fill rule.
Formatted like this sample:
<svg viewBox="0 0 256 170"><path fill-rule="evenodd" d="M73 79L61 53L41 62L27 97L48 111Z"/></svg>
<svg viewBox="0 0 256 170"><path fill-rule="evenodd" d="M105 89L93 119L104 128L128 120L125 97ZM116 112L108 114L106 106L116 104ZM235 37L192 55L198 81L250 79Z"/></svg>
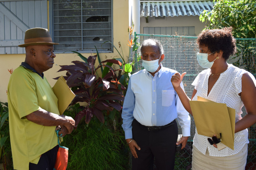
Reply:
<svg viewBox="0 0 256 170"><path fill-rule="evenodd" d="M66 80L62 75L54 84L53 92L58 98L58 108L61 115L66 110L66 108L68 108L68 105L74 99L75 94L68 87Z"/></svg>

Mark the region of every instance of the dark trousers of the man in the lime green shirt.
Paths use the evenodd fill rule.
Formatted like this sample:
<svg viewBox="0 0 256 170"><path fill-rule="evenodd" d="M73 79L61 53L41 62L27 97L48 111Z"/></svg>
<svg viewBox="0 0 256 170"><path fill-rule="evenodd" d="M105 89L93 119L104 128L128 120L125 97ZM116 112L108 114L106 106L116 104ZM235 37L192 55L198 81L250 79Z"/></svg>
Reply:
<svg viewBox="0 0 256 170"><path fill-rule="evenodd" d="M57 153L59 150L59 145L53 147L51 150L42 154L38 164L29 163L29 170L53 170Z"/></svg>

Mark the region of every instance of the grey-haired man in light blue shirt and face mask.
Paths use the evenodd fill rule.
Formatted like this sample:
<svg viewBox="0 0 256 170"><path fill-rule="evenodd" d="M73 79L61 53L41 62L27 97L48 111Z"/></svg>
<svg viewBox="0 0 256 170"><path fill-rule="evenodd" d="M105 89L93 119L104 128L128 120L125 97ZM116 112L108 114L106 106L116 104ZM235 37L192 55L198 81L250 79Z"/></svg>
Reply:
<svg viewBox="0 0 256 170"><path fill-rule="evenodd" d="M154 157L157 169L174 169L176 145L183 149L190 136L190 117L171 83L177 71L160 63L164 51L158 40L144 40L140 52L145 69L130 77L122 112L132 169L153 169ZM176 118L183 135L178 142Z"/></svg>

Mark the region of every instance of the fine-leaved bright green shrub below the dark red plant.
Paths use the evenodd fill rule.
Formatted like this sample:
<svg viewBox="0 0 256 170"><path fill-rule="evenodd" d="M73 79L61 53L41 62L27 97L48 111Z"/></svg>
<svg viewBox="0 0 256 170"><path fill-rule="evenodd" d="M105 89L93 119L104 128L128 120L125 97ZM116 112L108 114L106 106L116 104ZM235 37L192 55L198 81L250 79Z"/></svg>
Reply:
<svg viewBox="0 0 256 170"><path fill-rule="evenodd" d="M64 114L73 117L76 113L77 110L73 110ZM89 124L82 119L79 127L64 137L61 145L69 148L67 169L129 169L129 151L124 132L122 128L114 131L108 127L96 117L93 117Z"/></svg>

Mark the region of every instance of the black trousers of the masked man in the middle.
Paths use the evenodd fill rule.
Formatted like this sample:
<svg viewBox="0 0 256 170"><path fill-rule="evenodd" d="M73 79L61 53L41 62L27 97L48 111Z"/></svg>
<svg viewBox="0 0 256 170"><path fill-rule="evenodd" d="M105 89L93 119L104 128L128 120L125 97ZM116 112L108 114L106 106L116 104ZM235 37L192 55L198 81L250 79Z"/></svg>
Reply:
<svg viewBox="0 0 256 170"><path fill-rule="evenodd" d="M178 138L178 126L174 120L172 126L158 131L148 131L139 122L132 122L132 138L140 150L138 158L132 157L132 170L152 170L155 157L157 170L173 170Z"/></svg>

